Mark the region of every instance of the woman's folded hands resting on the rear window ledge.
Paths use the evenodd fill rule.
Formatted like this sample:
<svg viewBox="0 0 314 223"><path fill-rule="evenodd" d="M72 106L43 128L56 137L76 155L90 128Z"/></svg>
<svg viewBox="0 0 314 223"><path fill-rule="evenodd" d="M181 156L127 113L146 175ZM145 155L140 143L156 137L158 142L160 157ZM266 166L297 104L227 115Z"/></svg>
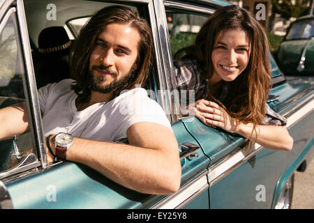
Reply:
<svg viewBox="0 0 314 223"><path fill-rule="evenodd" d="M237 133L239 121L232 118L223 107L208 100L197 100L194 104L195 116L205 125L222 128L227 132ZM191 105L189 105L191 106Z"/></svg>

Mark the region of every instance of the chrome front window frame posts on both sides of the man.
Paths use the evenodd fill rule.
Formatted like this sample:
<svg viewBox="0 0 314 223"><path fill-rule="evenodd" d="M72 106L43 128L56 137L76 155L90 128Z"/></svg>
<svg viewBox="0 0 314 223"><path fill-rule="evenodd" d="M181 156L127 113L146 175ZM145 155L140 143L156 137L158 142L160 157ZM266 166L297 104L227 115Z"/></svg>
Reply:
<svg viewBox="0 0 314 223"><path fill-rule="evenodd" d="M21 20L23 21L24 24L20 25L20 29L22 29L22 33L23 35L21 35L21 40L22 42L24 42L23 44L23 56L24 56L24 61L26 63L26 73L27 73L27 82L29 83L29 93L30 93L30 99L31 99L31 107L30 110L33 112L33 114L35 114L35 116L32 118L32 123L33 126L35 127L35 133L36 133L36 137L37 137L37 141L36 143L38 144L38 154L40 155L40 164L42 169L45 169L46 167L50 167L54 164L49 164L47 163L47 152L45 150L45 137L44 137L44 132L43 132L43 123L42 123L42 117L41 117L41 112L40 112L40 107L39 107L39 100L38 100L38 93L37 93L37 89L36 89L36 79L35 79L35 73L33 70L33 61L31 58L31 49L30 49L30 43L29 43L29 34L28 34L28 26L27 26L27 20L26 20L26 16L25 16L25 11L24 11L24 5L22 3L22 0L16 0L17 1L17 5L20 6L20 15L18 15L18 17L21 18ZM155 14L155 8L156 6L154 5L154 3L156 3L156 1L153 0L142 0L142 1L138 1L138 0L116 0L116 1L105 1L105 2L110 2L110 3L117 3L117 4L124 4L126 6L135 6L138 9L142 9L144 8L145 10L147 10L146 15L147 17L145 17L145 19L147 20L147 22L149 22L149 25L151 26L151 31L153 34L153 41L154 41L154 53L155 53L155 61L154 61L154 68L156 68L156 70L153 69L153 74L151 75L151 77L155 78L155 82L157 83L158 87L157 89L160 91L165 91L167 92L167 84L165 84L165 72L163 72L163 61L161 59L160 56L160 33L159 33L159 29L157 29L157 20L156 20L156 14ZM142 15L141 15L142 16ZM27 37L27 38L26 38ZM157 79L156 79L157 77ZM168 120L170 121L170 123L172 122L172 113L170 112L170 107L168 105L169 100L167 100L167 95L162 94L157 95L157 101L158 104L163 107L163 109L165 110L165 114L168 118ZM34 133L34 134L35 134ZM59 162L58 162L59 163ZM38 167L38 166L36 166Z"/></svg>

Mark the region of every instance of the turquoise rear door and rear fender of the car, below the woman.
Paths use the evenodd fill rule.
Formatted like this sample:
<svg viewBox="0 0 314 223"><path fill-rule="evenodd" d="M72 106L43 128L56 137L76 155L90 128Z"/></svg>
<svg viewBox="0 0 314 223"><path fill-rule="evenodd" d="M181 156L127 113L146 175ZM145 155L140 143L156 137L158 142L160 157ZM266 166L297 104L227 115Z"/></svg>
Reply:
<svg viewBox="0 0 314 223"><path fill-rule="evenodd" d="M184 121L211 160L210 208L275 208L293 171L306 154L313 157L313 83L286 82L272 56L270 60L274 87L267 102L287 118L287 129L294 139L292 151L257 144L248 150L246 139L209 128L197 118Z"/></svg>

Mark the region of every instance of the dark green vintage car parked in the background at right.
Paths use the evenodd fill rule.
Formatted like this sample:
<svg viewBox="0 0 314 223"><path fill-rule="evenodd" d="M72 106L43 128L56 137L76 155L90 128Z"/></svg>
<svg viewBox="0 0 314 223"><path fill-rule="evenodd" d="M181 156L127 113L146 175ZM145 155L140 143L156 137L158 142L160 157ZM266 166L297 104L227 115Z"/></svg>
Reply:
<svg viewBox="0 0 314 223"><path fill-rule="evenodd" d="M285 75L314 75L314 16L299 17L287 29L276 53Z"/></svg>

